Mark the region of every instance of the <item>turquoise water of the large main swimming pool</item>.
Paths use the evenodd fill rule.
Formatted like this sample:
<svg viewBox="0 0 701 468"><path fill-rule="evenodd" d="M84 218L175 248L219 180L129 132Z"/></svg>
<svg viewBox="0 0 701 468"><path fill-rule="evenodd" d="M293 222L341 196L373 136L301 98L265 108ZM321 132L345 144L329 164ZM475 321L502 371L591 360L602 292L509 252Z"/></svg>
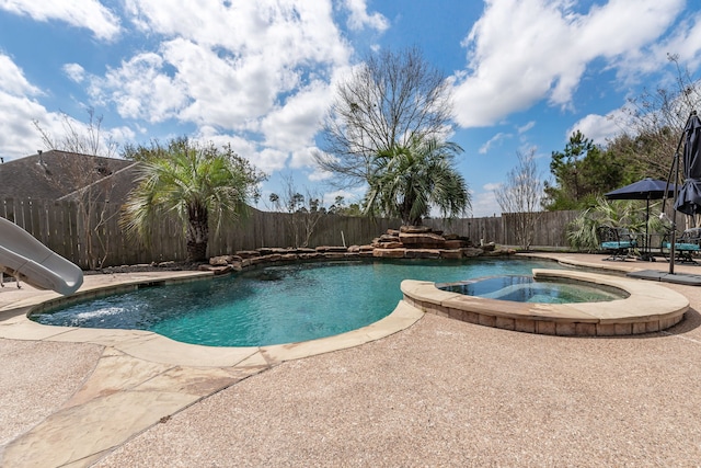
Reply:
<svg viewBox="0 0 701 468"><path fill-rule="evenodd" d="M530 275L524 260L331 262L272 265L235 275L140 288L30 318L44 324L149 330L211 346L260 346L330 336L391 313L402 279L455 283Z"/></svg>

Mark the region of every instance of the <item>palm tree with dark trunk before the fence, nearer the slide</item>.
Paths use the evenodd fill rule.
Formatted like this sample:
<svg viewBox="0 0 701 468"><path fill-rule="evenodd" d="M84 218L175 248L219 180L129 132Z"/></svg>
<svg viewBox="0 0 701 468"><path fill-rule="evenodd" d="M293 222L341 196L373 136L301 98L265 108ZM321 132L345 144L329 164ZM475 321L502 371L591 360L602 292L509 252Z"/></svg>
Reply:
<svg viewBox="0 0 701 468"><path fill-rule="evenodd" d="M193 145L186 138L168 148L142 149L137 187L125 205L122 222L128 235L151 240L154 224L173 214L183 224L187 261L207 255L209 228L215 230L245 214L264 175L229 146Z"/></svg>

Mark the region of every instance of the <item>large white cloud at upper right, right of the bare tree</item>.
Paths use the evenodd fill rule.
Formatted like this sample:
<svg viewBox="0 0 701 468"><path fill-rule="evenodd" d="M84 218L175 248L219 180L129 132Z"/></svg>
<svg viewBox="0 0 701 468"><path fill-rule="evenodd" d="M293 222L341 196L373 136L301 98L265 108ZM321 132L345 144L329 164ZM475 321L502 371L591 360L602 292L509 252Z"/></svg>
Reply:
<svg viewBox="0 0 701 468"><path fill-rule="evenodd" d="M590 61L631 66L625 58L665 34L683 4L610 0L579 13L568 0L489 0L463 42L469 62L456 76L459 125L492 125L542 99L572 106Z"/></svg>

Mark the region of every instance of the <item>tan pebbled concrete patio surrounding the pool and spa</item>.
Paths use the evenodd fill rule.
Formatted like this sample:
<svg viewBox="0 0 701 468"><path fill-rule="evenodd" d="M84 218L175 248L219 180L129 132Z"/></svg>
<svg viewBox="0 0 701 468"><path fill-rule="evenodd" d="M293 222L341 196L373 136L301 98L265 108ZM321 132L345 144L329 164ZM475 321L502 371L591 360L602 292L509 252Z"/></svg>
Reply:
<svg viewBox="0 0 701 468"><path fill-rule="evenodd" d="M618 271L668 267L549 256ZM5 287L0 310L15 311L0 313L0 460L697 466L701 288L664 287L690 310L671 329L637 336L537 335L400 308L393 323L342 345L214 357L174 342L152 346L164 339L146 332L103 331L100 344L82 330L42 333L16 310L51 293Z"/></svg>

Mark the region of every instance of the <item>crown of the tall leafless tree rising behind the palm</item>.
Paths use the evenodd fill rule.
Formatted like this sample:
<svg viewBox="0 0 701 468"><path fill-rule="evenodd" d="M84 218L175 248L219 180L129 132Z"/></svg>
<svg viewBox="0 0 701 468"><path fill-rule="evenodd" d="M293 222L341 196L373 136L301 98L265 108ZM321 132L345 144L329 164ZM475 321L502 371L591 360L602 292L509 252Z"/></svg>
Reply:
<svg viewBox="0 0 701 468"><path fill-rule="evenodd" d="M338 84L322 130L317 162L337 185L360 185L380 152L407 148L451 128L450 85L416 48L369 55Z"/></svg>

